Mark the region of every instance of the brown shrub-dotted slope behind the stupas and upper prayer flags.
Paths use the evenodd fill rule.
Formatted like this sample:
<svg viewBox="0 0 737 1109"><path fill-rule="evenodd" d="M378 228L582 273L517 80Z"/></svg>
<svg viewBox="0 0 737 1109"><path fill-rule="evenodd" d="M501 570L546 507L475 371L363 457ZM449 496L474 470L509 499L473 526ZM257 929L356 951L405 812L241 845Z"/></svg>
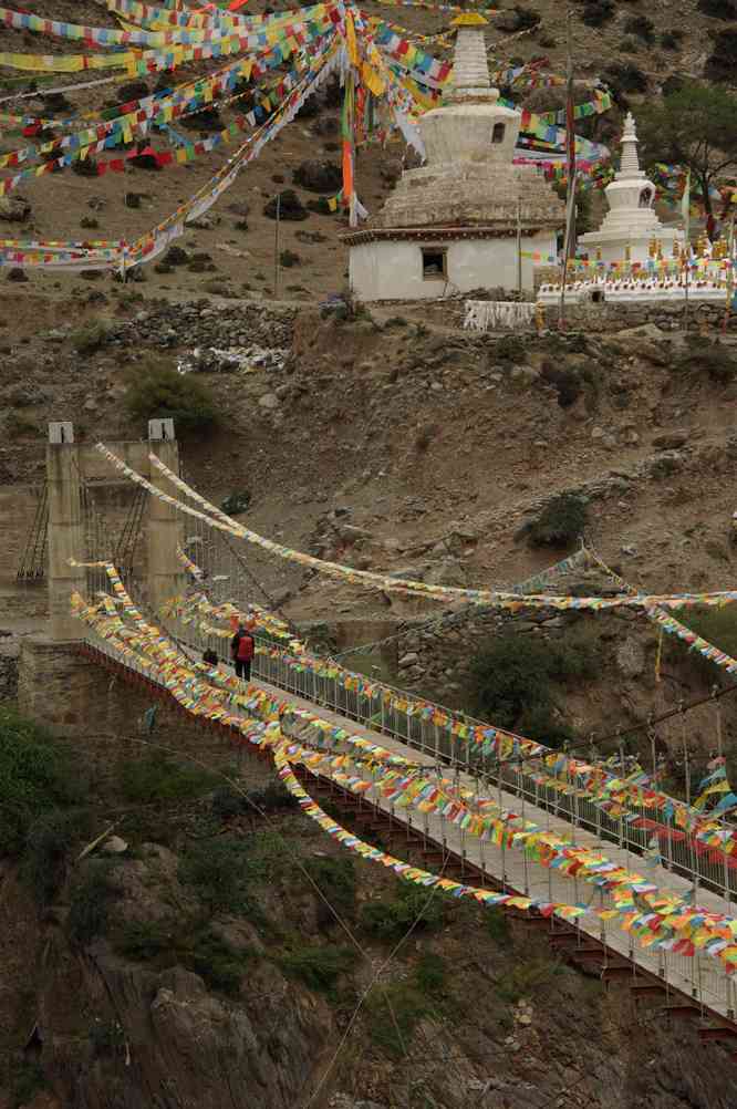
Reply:
<svg viewBox="0 0 737 1109"><path fill-rule="evenodd" d="M32 7L34 13L52 19L116 26L105 8L98 3L37 0ZM272 9L275 7L288 4L280 2ZM257 0L249 6L249 11L262 8L263 3ZM366 10L382 18L396 16L400 28L419 34L434 33L448 26L446 14L422 9L407 8L401 13L388 13L380 4L369 2ZM618 102L618 106L606 115L582 121L582 133L597 141L615 142L621 108L625 103L636 111L639 103L657 96L674 73L696 79L703 78L705 71L708 74L707 63L715 49L726 50L727 58L733 49L734 14L730 0L687 0L679 8L679 26L674 31L671 6L666 2L651 4L647 12L641 12L626 0L576 2L572 26L580 99L585 100L594 83L604 80L616 92ZM547 58L553 72L563 72L564 22L555 0L510 6L491 21L490 43L499 43L492 49L493 64L505 68L510 62L519 64ZM6 50L79 52L78 43L30 32L3 30L2 35ZM429 49L432 52L434 44L430 43ZM439 57L447 55L441 47L436 52ZM192 80L212 68L209 63L204 68L185 67L177 71L177 79ZM7 71L7 75L16 80L9 91L19 91L19 88L25 91L24 84L19 87L17 83L17 71ZM81 78L62 77L54 83L73 85L83 78L84 74ZM166 78L162 80L167 83ZM51 116L64 116L74 111L94 112L126 96L145 94L155 84L156 79L152 78L147 82L136 81L135 87L129 82L127 85L70 92L61 100L39 95L9 102L7 110ZM512 95L535 110L560 106L561 102L560 89L513 90ZM274 206L269 207L269 202L286 189L291 190L294 200L285 202L276 250L287 260L277 278L280 295L310 301L341 289L347 269L347 252L340 241L346 230L345 221L339 214L321 213L321 199L335 194L340 185L339 102L340 95L335 89L310 101L297 120L267 144L218 205L188 226L182 242L190 254L187 264L144 267L142 279L149 296L161 294L173 302L203 293L273 297L275 224ZM197 138L198 130L207 135L232 122L233 118L233 111L224 109L217 118L194 116L187 128L180 130L191 139ZM8 130L0 138L0 150L12 151L27 142L20 131ZM152 142L161 145L162 139L153 136ZM78 241L104 237L131 242L192 196L225 164L234 149L233 145L224 147L186 166L163 172L136 167L130 162L125 173L96 177L66 169L24 183L11 194L12 202L8 200L0 205L0 221L8 224L6 234L10 237ZM406 156L403 144L396 140L386 149L375 144L359 150L358 192L369 212L376 212L383 203ZM61 196L63 204L59 202ZM68 296L79 286L79 278L73 276L50 276L29 269L25 277L44 297L54 299Z"/></svg>

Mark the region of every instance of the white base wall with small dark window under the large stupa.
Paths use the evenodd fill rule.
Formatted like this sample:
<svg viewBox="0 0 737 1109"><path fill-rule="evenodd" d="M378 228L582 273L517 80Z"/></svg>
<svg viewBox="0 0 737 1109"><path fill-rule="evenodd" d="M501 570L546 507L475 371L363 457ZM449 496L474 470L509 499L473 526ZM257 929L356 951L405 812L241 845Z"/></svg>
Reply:
<svg viewBox="0 0 737 1109"><path fill-rule="evenodd" d="M448 250L448 281L422 277L422 247ZM540 251L540 264L555 254L555 235L542 232L522 241L524 252ZM534 263L522 258L522 285L533 288ZM516 288L515 238L465 238L433 243L380 240L351 246L349 278L359 301L420 301L469 293L474 288Z"/></svg>

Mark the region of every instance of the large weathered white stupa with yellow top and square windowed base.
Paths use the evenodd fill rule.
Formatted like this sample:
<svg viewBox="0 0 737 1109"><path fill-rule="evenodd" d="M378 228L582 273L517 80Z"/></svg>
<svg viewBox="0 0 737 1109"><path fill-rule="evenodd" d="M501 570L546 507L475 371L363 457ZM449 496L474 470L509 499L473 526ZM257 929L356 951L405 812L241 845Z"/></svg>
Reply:
<svg viewBox="0 0 737 1109"><path fill-rule="evenodd" d="M379 215L344 236L350 287L361 301L437 298L478 288L533 288L532 257L556 256L564 206L534 166L512 164L520 112L491 88L485 19L463 14L451 89L421 116L426 164L402 174Z"/></svg>

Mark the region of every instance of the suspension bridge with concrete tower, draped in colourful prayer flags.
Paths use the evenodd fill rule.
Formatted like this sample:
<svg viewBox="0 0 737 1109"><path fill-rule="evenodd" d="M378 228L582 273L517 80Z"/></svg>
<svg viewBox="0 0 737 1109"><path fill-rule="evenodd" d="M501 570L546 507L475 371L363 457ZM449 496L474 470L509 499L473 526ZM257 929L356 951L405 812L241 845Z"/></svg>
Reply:
<svg viewBox="0 0 737 1109"><path fill-rule="evenodd" d="M286 620L255 601L253 572L238 572L245 560L237 540L258 540L269 554L275 548L303 564L319 560L252 538L187 486L168 421L152 424L147 444L112 449L75 444L70 426L62 435L52 425L50 438L28 550L48 551L45 564L37 558L31 570L35 580L48 577L50 633L60 648L178 705L240 750L274 759L306 814L347 849L407 881L524 915L574 963L606 981L624 979L674 1019L698 1021L702 1040L737 1040L733 825L668 797L624 760L613 767L591 753L551 751L313 654ZM114 478L130 487L117 532L90 522L94 482ZM115 554L125 556L122 570ZM28 572L28 554L23 566ZM347 580L377 579L377 588L426 589L323 568L334 577L346 570ZM532 588L546 588L555 569ZM427 592L448 599L442 587ZM474 603L491 596L444 592L473 594ZM716 603L717 596L733 599L702 600ZM541 597L561 601L526 586L492 601ZM626 597L613 603L642 601ZM648 614L656 600L665 606L659 612L692 602L647 600ZM248 685L227 663L199 661L206 649L227 653L240 619L256 640ZM336 823L319 806L325 796L351 827L379 835L397 854Z"/></svg>

